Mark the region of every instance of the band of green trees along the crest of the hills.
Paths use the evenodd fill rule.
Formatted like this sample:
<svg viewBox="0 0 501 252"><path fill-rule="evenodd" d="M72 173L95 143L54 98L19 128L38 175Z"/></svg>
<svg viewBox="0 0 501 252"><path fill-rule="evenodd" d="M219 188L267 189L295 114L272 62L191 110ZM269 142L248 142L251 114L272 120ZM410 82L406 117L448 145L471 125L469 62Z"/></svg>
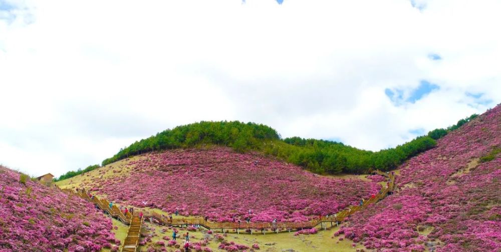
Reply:
<svg viewBox="0 0 501 252"><path fill-rule="evenodd" d="M118 153L103 160L107 165L129 156L165 149L189 148L200 144L229 146L237 152L258 150L288 162L300 165L315 173L365 173L370 169L391 170L405 160L436 145L436 140L474 119L477 114L459 120L447 128L437 128L423 136L394 148L369 151L342 142L305 139L298 136L282 139L270 126L240 121L200 121L166 129L146 139L135 141ZM66 179L98 168L68 171L57 180Z"/></svg>

